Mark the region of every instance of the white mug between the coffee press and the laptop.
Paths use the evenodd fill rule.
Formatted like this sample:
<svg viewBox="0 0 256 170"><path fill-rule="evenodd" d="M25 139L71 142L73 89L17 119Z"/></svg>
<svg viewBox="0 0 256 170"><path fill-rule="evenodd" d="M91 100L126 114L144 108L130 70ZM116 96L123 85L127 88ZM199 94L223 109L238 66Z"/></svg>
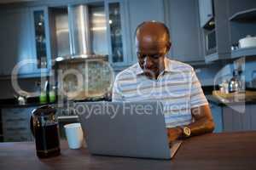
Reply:
<svg viewBox="0 0 256 170"><path fill-rule="evenodd" d="M71 123L64 126L68 147L70 149L79 149L83 145L84 134L82 131L81 124Z"/></svg>

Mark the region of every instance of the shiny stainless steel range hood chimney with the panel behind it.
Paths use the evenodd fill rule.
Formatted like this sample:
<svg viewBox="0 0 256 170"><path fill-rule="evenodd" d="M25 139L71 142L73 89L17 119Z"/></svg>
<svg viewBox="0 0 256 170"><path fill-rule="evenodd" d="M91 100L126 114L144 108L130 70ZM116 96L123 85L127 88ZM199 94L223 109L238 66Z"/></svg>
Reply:
<svg viewBox="0 0 256 170"><path fill-rule="evenodd" d="M87 5L69 5L61 11L55 9L55 61L108 58L107 32L94 30L106 24L104 14L99 17L101 12L102 8L92 9ZM99 22L102 25L99 26Z"/></svg>

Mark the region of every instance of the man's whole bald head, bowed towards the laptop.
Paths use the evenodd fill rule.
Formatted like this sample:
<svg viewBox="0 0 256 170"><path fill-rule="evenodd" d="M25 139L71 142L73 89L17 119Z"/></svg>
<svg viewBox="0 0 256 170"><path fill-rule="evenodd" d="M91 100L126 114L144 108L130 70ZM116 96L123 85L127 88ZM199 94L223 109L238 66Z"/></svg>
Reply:
<svg viewBox="0 0 256 170"><path fill-rule="evenodd" d="M165 55L171 48L166 26L157 22L145 22L136 32L138 63L149 78L157 78L165 70Z"/></svg>

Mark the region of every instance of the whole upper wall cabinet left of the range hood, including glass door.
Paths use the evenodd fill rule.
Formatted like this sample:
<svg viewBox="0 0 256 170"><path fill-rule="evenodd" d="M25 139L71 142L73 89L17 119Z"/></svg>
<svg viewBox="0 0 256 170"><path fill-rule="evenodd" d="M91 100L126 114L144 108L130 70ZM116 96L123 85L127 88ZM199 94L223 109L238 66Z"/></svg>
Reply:
<svg viewBox="0 0 256 170"><path fill-rule="evenodd" d="M20 77L40 76L41 71L44 73L48 71L50 67L49 31L45 29L45 38L42 38L36 34L35 29L37 19L34 14L40 10L38 8L8 8L0 12L0 66L3 69L1 76L10 76L15 66L17 66L17 73ZM44 8L44 13L46 12ZM46 28L48 27L47 15L45 19ZM46 44L47 58L44 60L47 62L47 69L38 67L37 60L40 57L37 42L40 38Z"/></svg>

